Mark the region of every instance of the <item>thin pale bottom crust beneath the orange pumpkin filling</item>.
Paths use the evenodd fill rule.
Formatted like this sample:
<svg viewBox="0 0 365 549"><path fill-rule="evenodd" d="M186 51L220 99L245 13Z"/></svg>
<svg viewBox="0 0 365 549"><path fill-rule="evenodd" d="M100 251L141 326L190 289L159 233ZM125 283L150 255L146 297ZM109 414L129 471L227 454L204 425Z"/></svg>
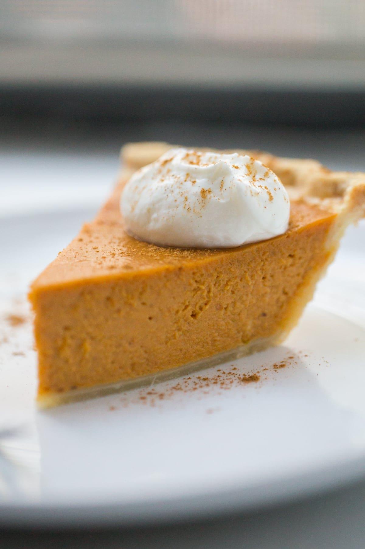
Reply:
<svg viewBox="0 0 365 549"><path fill-rule="evenodd" d="M107 396L116 393L123 393L133 389L153 386L155 383L162 383L171 379L176 379L181 376L188 376L194 372L205 368L220 366L224 362L236 360L244 356L252 355L255 352L265 351L269 347L279 345L287 333L277 333L269 338L256 339L245 345L240 345L235 349L221 352L217 355L202 358L194 362L189 362L182 366L170 368L162 372L150 374L149 376L138 377L134 379L125 379L116 383L107 383L96 385L93 387L75 389L66 391L65 393L42 394L37 397L38 408L52 408L60 404L70 404L71 402L79 402L82 400L93 399L97 396Z"/></svg>

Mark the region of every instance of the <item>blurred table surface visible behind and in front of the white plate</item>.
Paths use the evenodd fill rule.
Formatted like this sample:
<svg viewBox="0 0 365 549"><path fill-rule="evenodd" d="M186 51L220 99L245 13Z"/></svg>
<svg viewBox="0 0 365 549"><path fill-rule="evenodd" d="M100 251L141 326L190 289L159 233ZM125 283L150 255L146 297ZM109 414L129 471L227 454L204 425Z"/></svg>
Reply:
<svg viewBox="0 0 365 549"><path fill-rule="evenodd" d="M98 126L38 121L0 137L0 215L58 210L70 203L97 209L115 181L120 145L163 140L212 147L259 148L317 158L332 169L365 171L365 132L309 128L196 126L176 123ZM322 549L365 547L365 479L341 490L260 512L154 528L0 533L7 549L69 547L250 547Z"/></svg>

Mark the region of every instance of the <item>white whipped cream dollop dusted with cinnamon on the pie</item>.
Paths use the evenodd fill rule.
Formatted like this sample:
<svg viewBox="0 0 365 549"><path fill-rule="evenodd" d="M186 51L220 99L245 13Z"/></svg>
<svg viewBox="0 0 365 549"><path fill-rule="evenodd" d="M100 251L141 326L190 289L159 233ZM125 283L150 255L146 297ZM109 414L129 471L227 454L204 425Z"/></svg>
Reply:
<svg viewBox="0 0 365 549"><path fill-rule="evenodd" d="M289 211L283 184L259 160L184 148L135 172L121 196L129 234L181 248L232 248L278 236Z"/></svg>

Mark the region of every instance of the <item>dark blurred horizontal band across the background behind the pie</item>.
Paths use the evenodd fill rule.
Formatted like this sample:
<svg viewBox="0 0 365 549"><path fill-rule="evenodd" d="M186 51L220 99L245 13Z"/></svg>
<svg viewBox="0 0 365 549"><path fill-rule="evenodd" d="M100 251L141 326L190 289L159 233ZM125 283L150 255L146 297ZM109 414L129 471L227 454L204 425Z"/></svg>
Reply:
<svg viewBox="0 0 365 549"><path fill-rule="evenodd" d="M361 127L364 91L152 86L0 87L0 116Z"/></svg>

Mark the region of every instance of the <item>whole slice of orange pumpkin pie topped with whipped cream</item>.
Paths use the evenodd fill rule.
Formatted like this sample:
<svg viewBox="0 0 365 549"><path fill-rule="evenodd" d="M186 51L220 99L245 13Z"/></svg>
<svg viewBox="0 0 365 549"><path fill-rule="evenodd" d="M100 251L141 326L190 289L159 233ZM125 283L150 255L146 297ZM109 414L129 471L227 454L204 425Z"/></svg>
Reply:
<svg viewBox="0 0 365 549"><path fill-rule="evenodd" d="M179 157L188 168L179 175L174 169L168 172L170 149L164 143L126 145L120 181L108 202L32 283L41 406L110 393L146 383L156 374L167 378L181 373L181 367L199 368L230 354L277 345L312 298L347 225L365 215L363 173L333 172L314 160L256 151L188 149L187 156ZM173 150L171 158L179 149ZM158 160L161 155L163 160ZM213 160L204 162L206 155ZM228 156L241 163L234 164L237 173L232 158L231 172L227 169ZM150 163L153 173L143 167ZM219 163L221 171L214 167ZM243 167L249 185L244 177L239 180ZM235 187L228 172L235 174ZM149 173L156 183L153 193ZM189 173L185 182L184 173ZM175 177L175 187L169 187L170 177L161 190L160 176ZM219 185L218 177L223 181ZM267 177L274 187L265 189ZM280 191L279 180L287 193ZM133 182L139 186L133 187ZM199 193L191 191L195 201L190 200L188 184L200 188ZM125 186L123 196L129 198L121 208ZM181 189L181 198L176 198L181 208L176 211L169 189ZM219 194L224 189L235 197L233 205ZM277 209L270 210L273 189L290 198L289 221L283 214L286 199L273 199ZM163 206L163 193L169 195L169 208ZM209 203L203 211L207 200L216 204ZM246 208L246 225L240 223L237 204ZM127 222L121 210L127 211ZM196 223L193 215L200 216ZM281 216L281 229L274 216ZM277 232L271 232L274 225ZM143 239L142 226L147 235ZM238 234L246 236L239 240ZM196 242L199 246L188 247Z"/></svg>

